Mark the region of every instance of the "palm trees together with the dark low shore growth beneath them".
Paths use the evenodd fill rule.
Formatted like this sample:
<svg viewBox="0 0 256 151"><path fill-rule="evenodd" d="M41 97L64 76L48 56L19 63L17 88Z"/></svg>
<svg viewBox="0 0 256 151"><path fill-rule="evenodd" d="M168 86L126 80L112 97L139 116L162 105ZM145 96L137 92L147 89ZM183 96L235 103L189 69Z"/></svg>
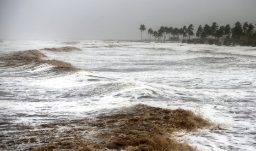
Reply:
<svg viewBox="0 0 256 151"><path fill-rule="evenodd" d="M144 28L141 28L144 27ZM243 26L241 22L237 21L235 26L231 28L229 24L226 26L219 26L216 22L213 22L211 26L205 24L204 26L199 25L197 32L194 33L194 26L190 24L188 27L183 26L181 28L177 27L164 27L161 26L159 30L153 31L151 28L148 30L149 38L154 37L157 42L166 42L166 37L168 35L168 40L178 41L179 36L182 36L182 41L187 43L209 43L209 44L222 44L224 45L248 45L256 47L256 31L254 30L254 25L252 23L244 22ZM143 30L141 30L143 29ZM145 31L145 25L140 25L141 40L142 32ZM191 36L196 36L194 39L190 39ZM171 37L170 37L171 36Z"/></svg>

